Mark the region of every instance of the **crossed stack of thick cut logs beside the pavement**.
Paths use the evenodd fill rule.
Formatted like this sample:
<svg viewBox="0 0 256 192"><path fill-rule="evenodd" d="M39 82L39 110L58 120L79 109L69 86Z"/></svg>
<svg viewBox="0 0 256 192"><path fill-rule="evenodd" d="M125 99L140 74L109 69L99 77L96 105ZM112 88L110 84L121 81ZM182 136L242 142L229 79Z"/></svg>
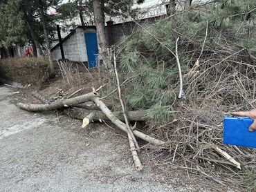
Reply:
<svg viewBox="0 0 256 192"><path fill-rule="evenodd" d="M118 93L120 93L117 70L116 78L118 81ZM69 117L81 119L82 128L86 128L86 126L88 126L93 121L111 121L113 124L116 125L117 128L127 133L135 169L136 171L141 171L143 169L143 165L141 164L140 158L138 157L138 151L140 150L140 147L138 146L136 137L155 146L163 146L165 142L158 140L150 135L147 135L141 131L138 131L136 128L136 124L134 126L131 126L131 124L129 124L129 120L134 122L144 121L147 111L125 111L125 106L122 102L122 97L120 94L119 98L120 104L122 105L122 111L112 112L109 107L106 106L104 102L102 102L102 98L100 98L100 95L98 94L98 91L101 88L102 86L97 90L93 88L93 92L91 93L86 93L84 95L73 97L82 90L81 88L79 90L76 90L71 95L68 95L66 98L57 99L54 102L51 102L51 100L48 99L45 95L33 92L32 95L39 99L42 104L18 103L17 106L30 112L62 110L62 112L64 112L64 114L68 115ZM94 105L88 104L90 102L94 103Z"/></svg>

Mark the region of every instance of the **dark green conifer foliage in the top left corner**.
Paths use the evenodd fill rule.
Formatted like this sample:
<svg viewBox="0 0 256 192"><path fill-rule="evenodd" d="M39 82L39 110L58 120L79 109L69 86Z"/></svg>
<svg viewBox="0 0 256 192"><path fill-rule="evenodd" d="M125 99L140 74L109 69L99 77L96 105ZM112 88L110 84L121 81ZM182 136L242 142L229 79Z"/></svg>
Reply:
<svg viewBox="0 0 256 192"><path fill-rule="evenodd" d="M42 0L45 19L50 35L55 31L55 15L49 14L49 8L57 7L60 0ZM27 23L35 32L37 41L44 42L44 30L39 17L39 0L8 0L0 3L0 46L24 45L32 41Z"/></svg>

